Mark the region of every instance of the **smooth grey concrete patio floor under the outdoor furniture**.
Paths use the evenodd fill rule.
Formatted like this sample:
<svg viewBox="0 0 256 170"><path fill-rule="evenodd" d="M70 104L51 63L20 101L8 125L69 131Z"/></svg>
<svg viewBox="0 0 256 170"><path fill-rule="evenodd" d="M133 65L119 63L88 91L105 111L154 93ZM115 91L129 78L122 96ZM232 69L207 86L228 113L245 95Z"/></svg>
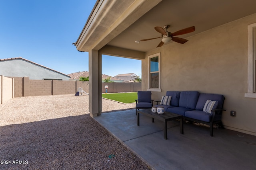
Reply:
<svg viewBox="0 0 256 170"><path fill-rule="evenodd" d="M254 170L256 136L228 129L214 129L184 123L168 122L168 139L164 123L140 114L137 126L135 109L102 113L94 117L121 143L155 170Z"/></svg>

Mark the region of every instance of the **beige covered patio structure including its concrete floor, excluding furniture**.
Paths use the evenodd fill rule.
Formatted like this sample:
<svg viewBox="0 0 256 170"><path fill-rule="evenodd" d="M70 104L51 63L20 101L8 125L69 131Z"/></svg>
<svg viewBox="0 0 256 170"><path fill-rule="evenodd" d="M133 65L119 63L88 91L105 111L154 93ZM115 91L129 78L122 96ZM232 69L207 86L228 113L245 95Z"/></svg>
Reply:
<svg viewBox="0 0 256 170"><path fill-rule="evenodd" d="M255 6L255 0L97 0L74 43L89 54L90 116L153 169L255 169ZM165 33L156 29L166 25ZM192 26L164 42L165 34ZM225 129L210 137L208 127L186 123L180 134L179 122L170 121L164 140L162 122L141 115L138 127L134 110L102 113L102 55L141 60L142 91L154 101L169 90L224 95Z"/></svg>

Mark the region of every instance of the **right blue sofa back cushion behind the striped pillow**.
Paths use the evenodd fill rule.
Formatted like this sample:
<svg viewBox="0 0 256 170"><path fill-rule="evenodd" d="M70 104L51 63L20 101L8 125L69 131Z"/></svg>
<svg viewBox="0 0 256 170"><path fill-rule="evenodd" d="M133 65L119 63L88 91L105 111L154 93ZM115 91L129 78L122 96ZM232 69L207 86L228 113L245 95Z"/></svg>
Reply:
<svg viewBox="0 0 256 170"><path fill-rule="evenodd" d="M198 102L196 104L196 110L203 110L204 104L207 100L218 101L218 106L216 109L222 109L224 99L224 96L221 94L200 93Z"/></svg>

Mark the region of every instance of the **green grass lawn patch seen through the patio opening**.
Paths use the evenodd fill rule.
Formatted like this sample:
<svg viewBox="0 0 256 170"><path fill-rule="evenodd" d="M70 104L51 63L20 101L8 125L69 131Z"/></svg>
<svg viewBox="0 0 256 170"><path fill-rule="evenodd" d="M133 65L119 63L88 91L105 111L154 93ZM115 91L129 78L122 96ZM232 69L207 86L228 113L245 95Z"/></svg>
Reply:
<svg viewBox="0 0 256 170"><path fill-rule="evenodd" d="M115 100L122 103L134 103L135 99L138 98L137 92L134 93L108 93L102 94L102 98Z"/></svg>

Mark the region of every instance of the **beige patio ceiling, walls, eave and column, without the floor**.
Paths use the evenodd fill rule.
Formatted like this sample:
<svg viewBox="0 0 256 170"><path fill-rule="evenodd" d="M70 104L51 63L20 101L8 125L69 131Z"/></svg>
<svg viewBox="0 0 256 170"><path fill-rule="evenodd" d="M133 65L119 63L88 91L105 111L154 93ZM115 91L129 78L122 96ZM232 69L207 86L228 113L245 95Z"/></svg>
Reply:
<svg viewBox="0 0 256 170"><path fill-rule="evenodd" d="M224 127L256 136L255 6L255 0L96 0L74 43L88 52L90 116L101 115L102 55L111 55L141 60L141 89L154 101L169 90L224 95Z"/></svg>

